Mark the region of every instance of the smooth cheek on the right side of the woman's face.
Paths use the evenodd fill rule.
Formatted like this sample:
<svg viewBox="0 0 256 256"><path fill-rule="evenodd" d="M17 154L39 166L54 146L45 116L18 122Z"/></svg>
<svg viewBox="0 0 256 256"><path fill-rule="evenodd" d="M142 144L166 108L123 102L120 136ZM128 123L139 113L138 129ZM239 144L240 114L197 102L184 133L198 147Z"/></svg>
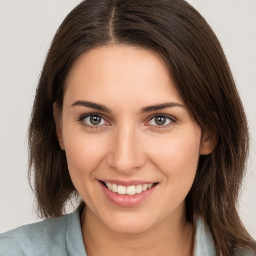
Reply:
<svg viewBox="0 0 256 256"><path fill-rule="evenodd" d="M151 161L163 174L165 196L158 198L158 207L174 212L184 202L190 191L199 160L200 136L195 138L172 138L154 150ZM155 153L157 152L157 153Z"/></svg>

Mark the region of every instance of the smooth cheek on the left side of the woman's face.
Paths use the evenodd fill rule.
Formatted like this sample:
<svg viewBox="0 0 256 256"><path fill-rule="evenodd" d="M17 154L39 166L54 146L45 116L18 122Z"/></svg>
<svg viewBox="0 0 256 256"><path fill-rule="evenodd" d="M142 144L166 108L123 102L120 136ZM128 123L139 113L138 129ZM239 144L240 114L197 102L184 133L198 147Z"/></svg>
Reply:
<svg viewBox="0 0 256 256"><path fill-rule="evenodd" d="M66 130L65 134L65 151L71 180L86 204L93 208L94 176L105 157L104 138L99 141L91 134L71 130Z"/></svg>

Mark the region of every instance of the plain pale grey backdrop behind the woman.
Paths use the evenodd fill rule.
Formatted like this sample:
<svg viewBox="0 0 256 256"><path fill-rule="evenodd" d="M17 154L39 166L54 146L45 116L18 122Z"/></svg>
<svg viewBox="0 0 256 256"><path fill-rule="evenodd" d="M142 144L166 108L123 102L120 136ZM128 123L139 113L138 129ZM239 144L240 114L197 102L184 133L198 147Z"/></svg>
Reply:
<svg viewBox="0 0 256 256"><path fill-rule="evenodd" d="M50 42L81 0L0 0L0 232L38 221L27 181L27 128ZM218 36L244 103L251 155L239 212L256 239L256 0L187 0Z"/></svg>

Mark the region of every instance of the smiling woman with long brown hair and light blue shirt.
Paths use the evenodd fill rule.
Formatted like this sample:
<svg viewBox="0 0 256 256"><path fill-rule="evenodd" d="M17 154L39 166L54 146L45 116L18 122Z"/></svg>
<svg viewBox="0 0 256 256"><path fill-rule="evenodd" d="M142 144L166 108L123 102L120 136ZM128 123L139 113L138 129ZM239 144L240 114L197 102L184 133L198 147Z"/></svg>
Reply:
<svg viewBox="0 0 256 256"><path fill-rule="evenodd" d="M245 113L184 1L79 4L47 55L29 144L39 214L55 218L2 234L3 255L256 253L235 208Z"/></svg>

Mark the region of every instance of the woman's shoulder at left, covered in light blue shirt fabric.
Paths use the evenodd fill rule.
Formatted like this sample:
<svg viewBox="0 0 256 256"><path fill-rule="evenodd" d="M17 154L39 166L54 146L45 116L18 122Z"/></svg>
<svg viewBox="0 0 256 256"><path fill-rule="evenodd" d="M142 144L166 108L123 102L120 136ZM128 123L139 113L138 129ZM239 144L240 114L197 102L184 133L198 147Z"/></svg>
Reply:
<svg viewBox="0 0 256 256"><path fill-rule="evenodd" d="M78 210L0 234L0 256L48 255L49 252L49 255L64 256L68 247L73 247L72 239L82 242Z"/></svg>

